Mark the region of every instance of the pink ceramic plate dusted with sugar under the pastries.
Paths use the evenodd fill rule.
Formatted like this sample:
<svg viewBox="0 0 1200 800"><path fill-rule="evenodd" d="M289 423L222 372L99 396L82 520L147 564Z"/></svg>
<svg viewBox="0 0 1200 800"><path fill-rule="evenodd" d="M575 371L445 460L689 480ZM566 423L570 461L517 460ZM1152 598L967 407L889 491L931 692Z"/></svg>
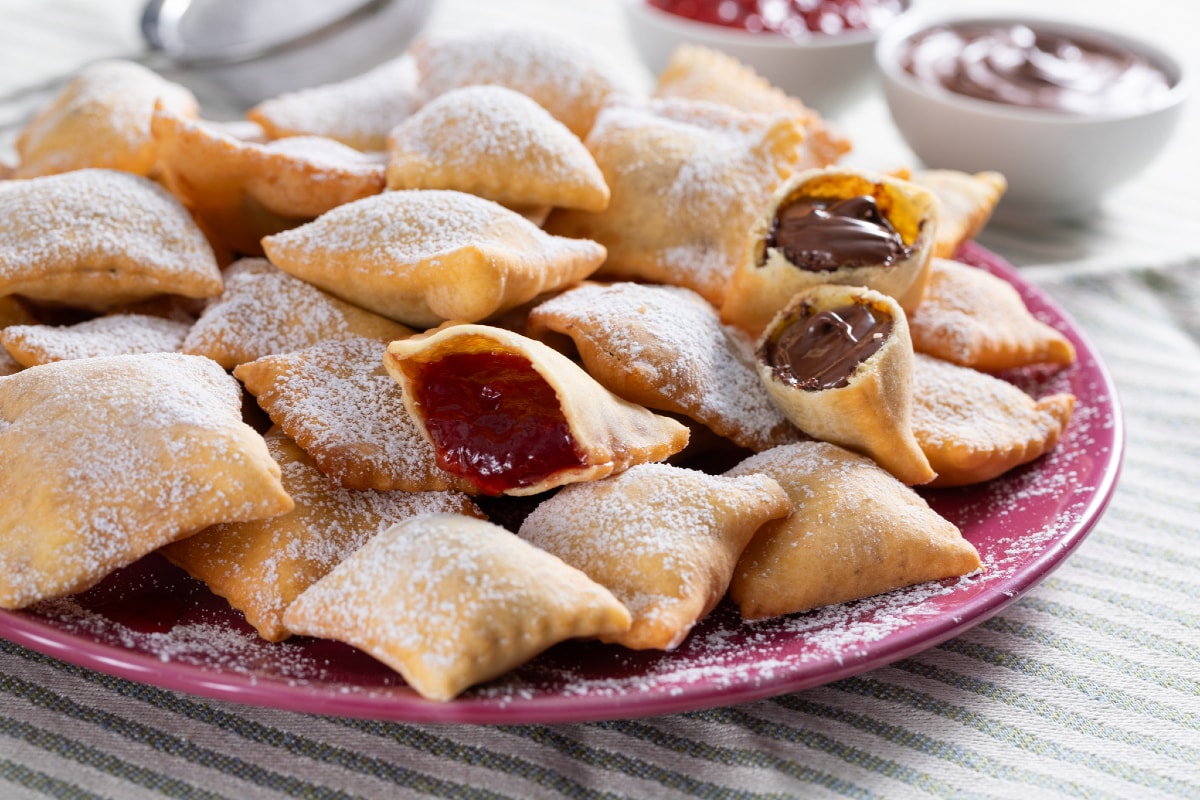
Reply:
<svg viewBox="0 0 1200 800"><path fill-rule="evenodd" d="M818 686L961 633L1020 597L1084 540L1116 483L1122 420L1096 353L1048 297L983 248L960 255L1004 277L1074 342L1068 369L1009 375L1036 396L1070 391L1075 416L1048 457L984 486L925 495L979 549L982 576L924 584L756 625L722 604L676 651L559 645L450 703L421 699L349 646L270 644L158 557L37 612L0 612L0 636L102 673L265 706L413 722L551 723L742 703Z"/></svg>

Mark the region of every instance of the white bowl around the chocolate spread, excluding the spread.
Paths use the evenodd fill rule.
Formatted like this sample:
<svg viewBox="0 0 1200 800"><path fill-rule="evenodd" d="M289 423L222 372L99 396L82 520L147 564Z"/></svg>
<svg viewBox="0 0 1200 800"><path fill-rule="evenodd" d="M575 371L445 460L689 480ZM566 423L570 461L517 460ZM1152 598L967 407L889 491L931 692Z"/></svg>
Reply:
<svg viewBox="0 0 1200 800"><path fill-rule="evenodd" d="M1145 110L1069 115L954 94L919 82L901 66L907 42L941 24L1027 24L1064 35L1100 38L1148 58L1168 76L1170 90ZM1182 64L1129 36L1038 18L908 17L876 46L892 119L916 156L931 168L996 170L1008 190L997 218L1075 219L1096 209L1112 187L1151 163L1170 139L1190 91Z"/></svg>

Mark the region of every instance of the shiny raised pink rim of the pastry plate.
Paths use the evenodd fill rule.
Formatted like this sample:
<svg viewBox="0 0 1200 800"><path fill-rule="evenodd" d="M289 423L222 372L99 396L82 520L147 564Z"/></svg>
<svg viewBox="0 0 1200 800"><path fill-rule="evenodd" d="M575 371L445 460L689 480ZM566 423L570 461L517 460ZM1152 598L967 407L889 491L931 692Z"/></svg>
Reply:
<svg viewBox="0 0 1200 800"><path fill-rule="evenodd" d="M630 692L617 698L602 694L558 693L512 699L480 694L438 703L421 698L403 682L394 687L344 691L338 688L337 684L284 680L241 670L164 661L146 652L65 631L24 610L0 609L0 638L113 678L242 705L377 721L476 724L594 722L748 703L815 688L937 646L986 621L1018 601L1074 553L1108 509L1116 492L1126 450L1124 415L1116 384L1086 332L1054 297L1022 278L1016 267L1002 257L980 245L967 242L955 258L1000 275L1018 288L1026 302L1032 296L1037 300L1037 305L1062 320L1069 337L1075 339L1084 351L1080 355L1086 354L1091 360L1088 369L1098 378L1097 396L1103 393L1110 409L1112 443L1108 447L1106 461L1098 470L1099 481L1090 485L1093 491L1087 503L1073 509L1074 519L1069 527L1034 558L1022 563L1013 575L996 579L986 590L955 606L954 614L941 612L930 619L923 619L919 624L905 625L876 642L868 643L862 651L851 654L832 669L781 670L779 675L734 681L732 685L689 685L678 692L656 691L647 694ZM821 660L820 663L827 661L827 658Z"/></svg>

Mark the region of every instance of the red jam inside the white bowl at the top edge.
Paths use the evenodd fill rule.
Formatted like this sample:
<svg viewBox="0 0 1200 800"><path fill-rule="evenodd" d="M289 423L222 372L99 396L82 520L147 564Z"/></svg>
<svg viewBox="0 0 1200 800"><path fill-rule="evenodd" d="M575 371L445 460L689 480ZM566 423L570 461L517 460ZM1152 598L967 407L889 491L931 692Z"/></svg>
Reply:
<svg viewBox="0 0 1200 800"><path fill-rule="evenodd" d="M876 30L904 11L901 0L647 0L677 17L792 38Z"/></svg>

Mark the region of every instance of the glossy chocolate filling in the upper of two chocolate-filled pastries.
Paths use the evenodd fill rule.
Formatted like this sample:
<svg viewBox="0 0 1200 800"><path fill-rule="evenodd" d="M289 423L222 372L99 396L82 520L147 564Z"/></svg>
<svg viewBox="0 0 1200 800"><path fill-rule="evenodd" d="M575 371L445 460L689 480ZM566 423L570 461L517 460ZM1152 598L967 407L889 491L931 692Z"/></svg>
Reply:
<svg viewBox="0 0 1200 800"><path fill-rule="evenodd" d="M888 266L910 248L874 197L802 197L779 209L767 246L794 266L824 272L844 266Z"/></svg>

